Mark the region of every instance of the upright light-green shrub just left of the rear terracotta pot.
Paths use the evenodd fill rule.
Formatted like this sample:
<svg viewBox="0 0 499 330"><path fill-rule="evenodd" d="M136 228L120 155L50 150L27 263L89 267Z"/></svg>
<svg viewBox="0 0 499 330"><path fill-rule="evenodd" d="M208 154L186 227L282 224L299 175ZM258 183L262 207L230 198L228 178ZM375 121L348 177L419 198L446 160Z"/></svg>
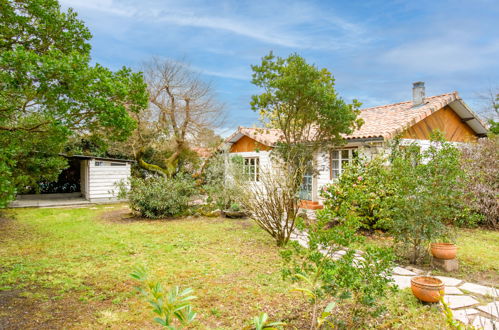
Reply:
<svg viewBox="0 0 499 330"><path fill-rule="evenodd" d="M385 203L386 225L411 262L417 263L430 242L451 238L447 225L462 216L460 152L440 134L423 151L417 145L395 145L387 174L393 194Z"/></svg>

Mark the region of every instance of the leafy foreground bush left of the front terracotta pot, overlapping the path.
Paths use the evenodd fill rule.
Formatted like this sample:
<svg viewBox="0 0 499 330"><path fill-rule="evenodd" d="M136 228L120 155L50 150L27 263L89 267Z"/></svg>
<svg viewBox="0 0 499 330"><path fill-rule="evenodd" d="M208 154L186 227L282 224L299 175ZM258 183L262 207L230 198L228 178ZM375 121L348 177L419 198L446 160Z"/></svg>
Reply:
<svg viewBox="0 0 499 330"><path fill-rule="evenodd" d="M309 234L308 249L293 243L281 252L287 262L283 275L299 284L293 291L303 293L311 303L310 329L320 329L324 324L364 328L383 312L379 301L391 282L386 275L393 268L392 252L368 248L358 258L357 251L351 248L363 239L356 234L358 218L347 216L331 227L336 214L326 205L317 212L317 221L298 225ZM322 312L325 305L328 307ZM345 305L349 306L349 314L343 318L338 312Z"/></svg>

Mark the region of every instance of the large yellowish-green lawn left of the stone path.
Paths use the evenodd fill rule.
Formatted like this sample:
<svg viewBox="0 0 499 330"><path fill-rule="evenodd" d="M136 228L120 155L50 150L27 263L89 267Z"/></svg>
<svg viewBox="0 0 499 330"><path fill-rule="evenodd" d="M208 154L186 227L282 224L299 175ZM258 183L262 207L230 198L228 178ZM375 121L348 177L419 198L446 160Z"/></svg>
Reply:
<svg viewBox="0 0 499 330"><path fill-rule="evenodd" d="M127 217L124 205L5 211L0 328L156 328L129 276L138 265L165 286L195 290L195 328L242 328L262 311L304 326L307 305L290 293L278 249L252 221ZM383 327L445 327L407 291L388 305Z"/></svg>

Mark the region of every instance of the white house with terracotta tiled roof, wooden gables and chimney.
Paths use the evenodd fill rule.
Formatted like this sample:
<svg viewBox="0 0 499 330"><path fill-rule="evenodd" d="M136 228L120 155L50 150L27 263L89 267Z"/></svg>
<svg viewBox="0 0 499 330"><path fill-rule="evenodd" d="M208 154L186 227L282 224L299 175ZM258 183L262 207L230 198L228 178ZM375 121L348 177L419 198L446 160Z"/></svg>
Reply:
<svg viewBox="0 0 499 330"><path fill-rule="evenodd" d="M363 109L359 116L364 124L344 137L343 146L314 155L316 173L305 175L300 192L307 208L321 207L320 189L338 178L354 155L369 159L397 136L401 143L417 143L424 149L429 146L431 132L437 129L448 141L457 143L476 141L487 134L487 126L457 92L426 97L422 82L414 83L412 101ZM272 166L269 153L279 139L276 129L239 127L225 140L225 149L229 155L242 156L245 172L250 180L258 182L261 169Z"/></svg>

